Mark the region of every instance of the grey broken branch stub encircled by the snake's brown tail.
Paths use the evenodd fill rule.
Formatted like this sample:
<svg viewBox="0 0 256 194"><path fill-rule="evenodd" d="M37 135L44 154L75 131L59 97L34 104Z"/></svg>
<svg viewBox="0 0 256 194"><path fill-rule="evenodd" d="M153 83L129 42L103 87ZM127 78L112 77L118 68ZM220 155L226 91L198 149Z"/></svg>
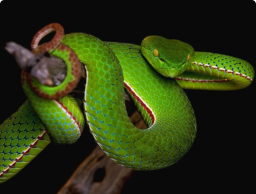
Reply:
<svg viewBox="0 0 256 194"><path fill-rule="evenodd" d="M67 66L58 57L47 56L47 54L33 54L30 50L15 42L7 43L5 49L15 57L22 70L31 73L41 84L58 86L67 75Z"/></svg>

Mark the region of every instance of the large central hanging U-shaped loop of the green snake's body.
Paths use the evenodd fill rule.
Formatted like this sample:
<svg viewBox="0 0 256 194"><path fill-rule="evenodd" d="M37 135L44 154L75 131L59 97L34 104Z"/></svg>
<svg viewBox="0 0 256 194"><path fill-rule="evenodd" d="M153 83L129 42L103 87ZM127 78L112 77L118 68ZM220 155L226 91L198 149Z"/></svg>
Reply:
<svg viewBox="0 0 256 194"><path fill-rule="evenodd" d="M104 43L83 33L67 34L63 43L86 66L86 120L109 157L125 167L152 170L168 167L184 156L196 135L191 103L175 80L159 76L147 64L140 47ZM154 112L156 122L147 130L135 128L127 116L122 69L125 82ZM145 117L145 111L141 112Z"/></svg>

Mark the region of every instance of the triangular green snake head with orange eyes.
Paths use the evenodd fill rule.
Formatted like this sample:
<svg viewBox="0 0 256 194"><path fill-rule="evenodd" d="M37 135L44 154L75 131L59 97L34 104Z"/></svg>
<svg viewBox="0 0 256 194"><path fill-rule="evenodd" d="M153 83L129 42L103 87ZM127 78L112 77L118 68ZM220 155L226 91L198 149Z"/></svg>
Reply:
<svg viewBox="0 0 256 194"><path fill-rule="evenodd" d="M164 77L177 77L194 57L194 48L179 40L148 36L141 43L141 53L151 66Z"/></svg>

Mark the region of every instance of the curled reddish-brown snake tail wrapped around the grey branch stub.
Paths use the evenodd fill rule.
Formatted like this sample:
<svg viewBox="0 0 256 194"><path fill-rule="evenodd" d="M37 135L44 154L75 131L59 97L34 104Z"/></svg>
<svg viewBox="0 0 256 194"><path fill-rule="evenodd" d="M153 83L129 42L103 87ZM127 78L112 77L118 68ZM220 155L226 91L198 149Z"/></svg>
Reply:
<svg viewBox="0 0 256 194"><path fill-rule="evenodd" d="M53 31L56 31L56 33L51 41L38 45L44 36ZM63 27L60 24L53 23L40 29L32 40L31 48L34 54L49 52L53 56L61 58L67 65L67 75L65 80L63 80L59 86L54 87L41 84L36 78L33 78L30 73L25 73L25 71L22 73L22 83L24 82L24 77L26 77L33 92L42 98L58 99L66 96L76 88L81 78L81 63L74 50L63 43L60 43L63 36ZM54 54L52 52L54 52ZM45 78L45 83L47 83L47 78Z"/></svg>

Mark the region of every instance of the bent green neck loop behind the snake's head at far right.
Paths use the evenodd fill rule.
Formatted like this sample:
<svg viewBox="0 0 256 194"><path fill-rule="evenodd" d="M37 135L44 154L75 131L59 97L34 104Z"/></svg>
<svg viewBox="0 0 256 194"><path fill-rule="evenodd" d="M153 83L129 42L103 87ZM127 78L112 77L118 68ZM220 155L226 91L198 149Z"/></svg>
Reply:
<svg viewBox="0 0 256 194"><path fill-rule="evenodd" d="M243 59L195 52L187 70L175 79L184 89L236 90L252 83L254 70Z"/></svg>

